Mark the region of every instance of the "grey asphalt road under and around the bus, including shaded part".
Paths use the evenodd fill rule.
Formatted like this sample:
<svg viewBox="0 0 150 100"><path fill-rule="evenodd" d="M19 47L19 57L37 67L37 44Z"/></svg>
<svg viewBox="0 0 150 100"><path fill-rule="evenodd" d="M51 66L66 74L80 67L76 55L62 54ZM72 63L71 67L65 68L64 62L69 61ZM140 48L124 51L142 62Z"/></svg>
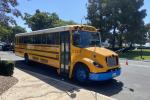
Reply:
<svg viewBox="0 0 150 100"><path fill-rule="evenodd" d="M20 57L16 57L10 52L0 52L2 60L16 61L16 67L27 73L29 71L53 77L58 80L66 81L74 85L76 82L64 79L57 75L56 70L48 66L38 63L26 65ZM150 99L150 61L134 61L129 60L128 65L125 65L126 60L121 59L122 67L121 76L110 82L91 82L88 85L80 86L97 93L104 94L116 98L118 100L149 100ZM29 73L32 74L32 73ZM35 75L35 74L33 74ZM37 77L35 75L35 77ZM43 80L43 79L41 79ZM45 80L43 80L45 81ZM45 81L46 82L46 81Z"/></svg>

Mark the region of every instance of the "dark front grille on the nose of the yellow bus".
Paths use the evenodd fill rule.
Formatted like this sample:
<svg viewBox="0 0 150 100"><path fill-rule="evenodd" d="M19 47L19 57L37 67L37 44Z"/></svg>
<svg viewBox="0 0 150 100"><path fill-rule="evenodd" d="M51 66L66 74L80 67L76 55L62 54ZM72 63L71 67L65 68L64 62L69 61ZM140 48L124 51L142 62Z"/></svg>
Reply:
<svg viewBox="0 0 150 100"><path fill-rule="evenodd" d="M107 57L106 62L109 67L114 67L118 65L118 57L113 56L113 57Z"/></svg>

